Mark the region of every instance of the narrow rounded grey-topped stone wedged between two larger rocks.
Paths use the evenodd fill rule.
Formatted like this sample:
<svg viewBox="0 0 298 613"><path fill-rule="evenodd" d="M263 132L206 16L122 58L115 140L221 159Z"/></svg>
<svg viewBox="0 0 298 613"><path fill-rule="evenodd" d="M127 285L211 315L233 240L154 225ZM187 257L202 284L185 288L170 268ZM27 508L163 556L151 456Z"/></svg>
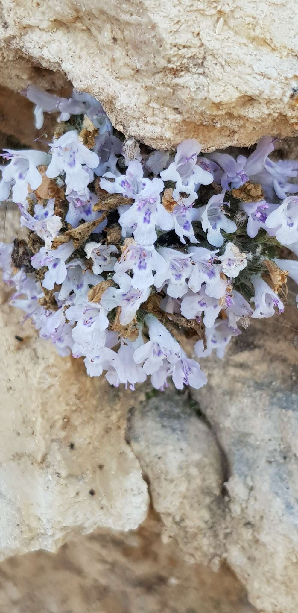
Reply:
<svg viewBox="0 0 298 613"><path fill-rule="evenodd" d="M207 424L185 395L168 390L130 409L127 437L149 479L162 539L175 539L189 562L217 568L223 463Z"/></svg>

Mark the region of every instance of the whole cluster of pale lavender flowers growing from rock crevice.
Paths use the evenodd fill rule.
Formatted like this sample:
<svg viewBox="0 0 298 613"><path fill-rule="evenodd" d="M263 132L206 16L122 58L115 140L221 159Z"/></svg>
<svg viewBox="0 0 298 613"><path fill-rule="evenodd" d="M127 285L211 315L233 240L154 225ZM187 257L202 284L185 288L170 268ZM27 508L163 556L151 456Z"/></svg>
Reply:
<svg viewBox="0 0 298 613"><path fill-rule="evenodd" d="M60 123L50 153L3 154L0 200L29 230L26 265L16 242L0 243L12 305L90 376L201 387L169 329L196 335L197 357L223 357L238 325L283 311L286 276L298 283L298 262L276 257L281 245L298 254L297 162L270 159L270 137L247 157L203 157L194 139L154 151L121 138L88 94L25 94L38 128L44 111Z"/></svg>

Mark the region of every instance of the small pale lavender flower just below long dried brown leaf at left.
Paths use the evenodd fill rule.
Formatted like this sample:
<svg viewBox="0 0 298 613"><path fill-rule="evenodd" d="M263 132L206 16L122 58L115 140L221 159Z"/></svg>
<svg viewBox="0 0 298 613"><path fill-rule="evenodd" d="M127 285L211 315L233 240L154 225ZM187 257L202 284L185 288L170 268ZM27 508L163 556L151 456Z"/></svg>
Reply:
<svg viewBox="0 0 298 613"><path fill-rule="evenodd" d="M66 260L74 251L74 243L72 240L69 243L59 245L58 249L47 249L42 247L38 253L31 257L33 268L48 267L45 273L42 286L46 289L53 289L55 283L58 285L63 283L66 278L67 268Z"/></svg>

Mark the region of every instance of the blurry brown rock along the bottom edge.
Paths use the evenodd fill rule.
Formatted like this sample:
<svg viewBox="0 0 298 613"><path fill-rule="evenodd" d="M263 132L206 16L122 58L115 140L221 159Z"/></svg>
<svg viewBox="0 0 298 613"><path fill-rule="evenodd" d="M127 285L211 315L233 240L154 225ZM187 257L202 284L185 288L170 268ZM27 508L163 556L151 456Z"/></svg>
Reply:
<svg viewBox="0 0 298 613"><path fill-rule="evenodd" d="M1 613L256 613L229 568L187 564L154 512L135 531L76 536L0 564Z"/></svg>

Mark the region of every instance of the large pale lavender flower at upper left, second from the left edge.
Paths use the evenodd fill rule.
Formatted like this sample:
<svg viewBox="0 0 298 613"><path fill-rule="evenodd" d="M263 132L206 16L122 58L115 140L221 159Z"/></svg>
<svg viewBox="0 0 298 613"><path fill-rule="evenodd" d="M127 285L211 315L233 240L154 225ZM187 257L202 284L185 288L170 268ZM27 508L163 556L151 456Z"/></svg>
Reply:
<svg viewBox="0 0 298 613"><path fill-rule="evenodd" d="M89 169L96 168L99 164L96 153L80 142L75 130L70 130L59 139L55 139L50 143L50 147L52 160L47 168L47 177L55 178L65 172L66 194L70 194L71 191L84 193L90 183L90 175L83 166L86 165Z"/></svg>

